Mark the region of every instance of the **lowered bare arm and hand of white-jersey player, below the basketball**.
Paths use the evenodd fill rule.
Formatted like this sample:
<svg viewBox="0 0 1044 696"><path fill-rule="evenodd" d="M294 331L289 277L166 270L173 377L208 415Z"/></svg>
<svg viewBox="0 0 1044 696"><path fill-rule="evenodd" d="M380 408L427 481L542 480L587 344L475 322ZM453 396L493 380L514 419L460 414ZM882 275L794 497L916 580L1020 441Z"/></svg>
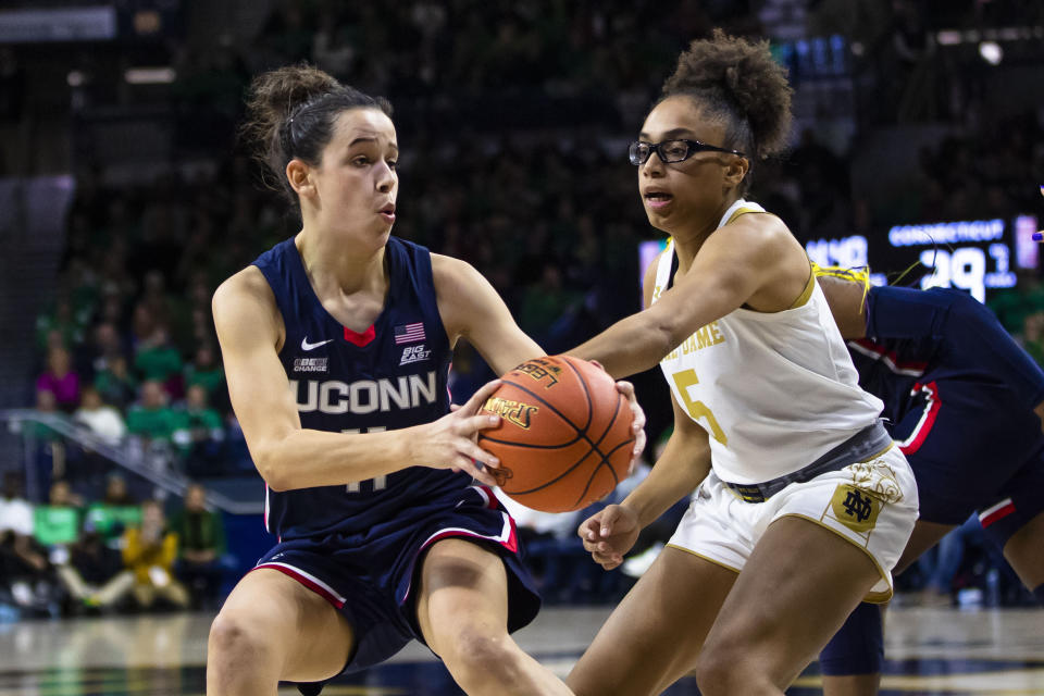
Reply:
<svg viewBox="0 0 1044 696"><path fill-rule="evenodd" d="M606 506L585 520L576 533L596 563L612 570L638 538L638 532L689 495L710 471L710 440L678 401L674 432L652 471L620 505Z"/></svg>

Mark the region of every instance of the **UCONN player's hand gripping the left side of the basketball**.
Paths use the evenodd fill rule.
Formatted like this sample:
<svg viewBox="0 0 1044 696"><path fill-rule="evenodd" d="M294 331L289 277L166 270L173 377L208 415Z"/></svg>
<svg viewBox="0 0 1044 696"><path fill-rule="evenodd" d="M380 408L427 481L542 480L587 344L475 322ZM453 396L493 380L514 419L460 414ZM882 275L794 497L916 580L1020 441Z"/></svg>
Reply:
<svg viewBox="0 0 1044 696"><path fill-rule="evenodd" d="M467 403L451 406L451 413L423 426L421 436L413 443L414 461L432 469L465 471L487 486L497 485L487 469L496 469L500 460L478 447L477 439L480 431L500 423L499 415L480 413L482 405L498 386L499 380L487 383Z"/></svg>

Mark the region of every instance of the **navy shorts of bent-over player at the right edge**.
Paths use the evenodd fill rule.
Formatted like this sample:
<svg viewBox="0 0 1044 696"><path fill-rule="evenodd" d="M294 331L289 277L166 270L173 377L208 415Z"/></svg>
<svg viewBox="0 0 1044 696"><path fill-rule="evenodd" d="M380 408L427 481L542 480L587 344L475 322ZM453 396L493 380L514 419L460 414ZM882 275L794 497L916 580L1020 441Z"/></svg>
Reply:
<svg viewBox="0 0 1044 696"><path fill-rule="evenodd" d="M1044 510L1040 418L1012 408L1011 390L986 380L933 380L929 372L916 391L892 436L913 468L921 519L961 524L978 511L1003 547Z"/></svg>

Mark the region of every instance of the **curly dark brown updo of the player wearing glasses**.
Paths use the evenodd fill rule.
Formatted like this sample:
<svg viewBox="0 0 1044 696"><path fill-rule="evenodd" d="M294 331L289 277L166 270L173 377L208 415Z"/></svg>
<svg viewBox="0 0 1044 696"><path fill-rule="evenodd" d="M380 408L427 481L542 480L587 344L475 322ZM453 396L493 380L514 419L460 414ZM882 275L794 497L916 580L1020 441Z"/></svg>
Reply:
<svg viewBox="0 0 1044 696"><path fill-rule="evenodd" d="M751 44L714 29L679 57L660 101L676 95L696 99L709 116L726 123L725 146L753 164L786 149L793 91L768 41Z"/></svg>

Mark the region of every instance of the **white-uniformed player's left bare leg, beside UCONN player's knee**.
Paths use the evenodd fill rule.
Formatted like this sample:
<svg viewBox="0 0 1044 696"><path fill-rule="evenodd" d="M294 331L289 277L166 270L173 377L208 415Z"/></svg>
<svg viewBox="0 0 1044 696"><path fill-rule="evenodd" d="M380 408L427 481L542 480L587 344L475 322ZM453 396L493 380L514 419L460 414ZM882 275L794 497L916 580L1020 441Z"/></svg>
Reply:
<svg viewBox="0 0 1044 696"><path fill-rule="evenodd" d="M735 571L699 556L664 548L566 682L576 696L659 694L696 664L736 577Z"/></svg>

